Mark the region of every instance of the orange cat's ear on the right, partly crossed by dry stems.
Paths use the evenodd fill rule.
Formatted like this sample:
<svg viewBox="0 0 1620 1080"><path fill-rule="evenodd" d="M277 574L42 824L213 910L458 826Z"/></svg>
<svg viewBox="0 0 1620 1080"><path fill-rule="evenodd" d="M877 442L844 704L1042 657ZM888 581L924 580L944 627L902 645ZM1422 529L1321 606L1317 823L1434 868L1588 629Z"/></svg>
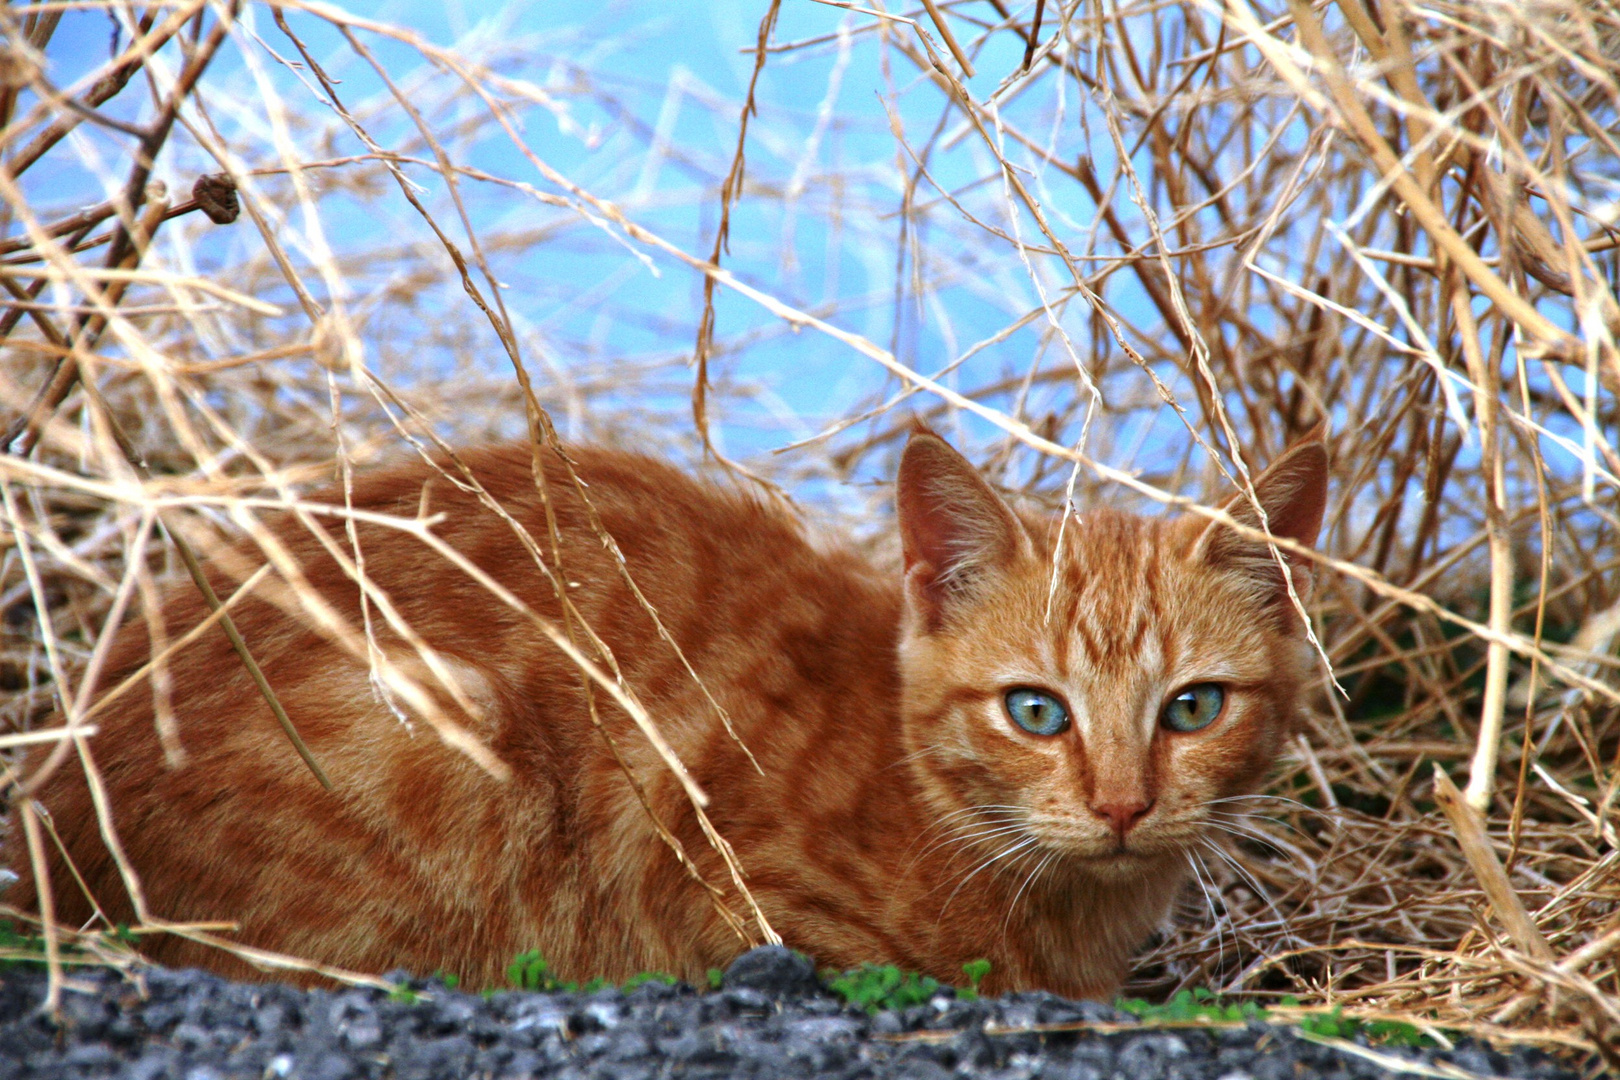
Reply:
<svg viewBox="0 0 1620 1080"><path fill-rule="evenodd" d="M1254 478L1254 494L1265 510L1265 523L1256 513L1254 502L1238 492L1221 507L1239 525L1268 529L1272 536L1291 539L1304 547L1315 542L1322 529L1322 513L1327 510L1327 445L1319 432L1288 447L1280 458ZM1267 585L1281 586L1277 560L1267 544L1251 541L1210 521L1194 549L1207 562L1244 570ZM1283 560L1294 570L1296 585L1304 585L1304 562L1283 551Z"/></svg>

